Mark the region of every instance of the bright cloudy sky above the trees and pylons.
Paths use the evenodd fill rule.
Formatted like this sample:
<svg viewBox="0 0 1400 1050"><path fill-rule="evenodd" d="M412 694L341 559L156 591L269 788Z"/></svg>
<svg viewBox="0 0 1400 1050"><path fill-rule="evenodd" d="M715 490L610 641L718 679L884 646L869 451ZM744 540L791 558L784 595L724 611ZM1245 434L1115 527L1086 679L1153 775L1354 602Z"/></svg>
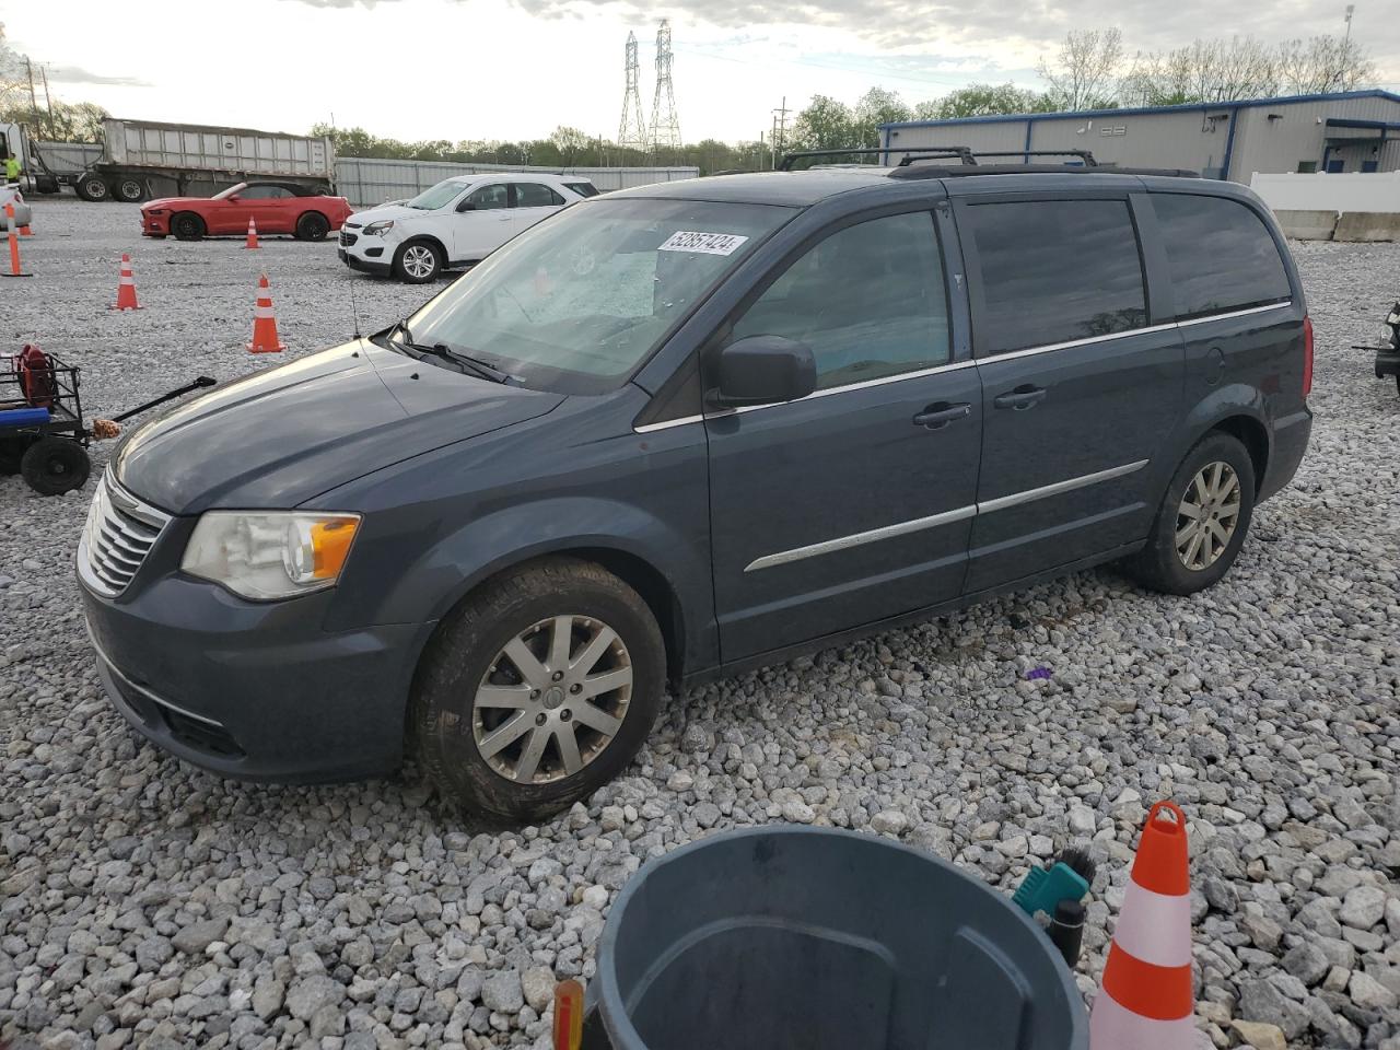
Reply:
<svg viewBox="0 0 1400 1050"><path fill-rule="evenodd" d="M1352 34L1400 91L1393 0L1358 0ZM972 81L1039 87L1070 29L1117 25L1130 52L1197 36L1344 29L1331 0L0 0L11 45L56 98L113 116L301 133L318 120L395 139L616 137L623 46L637 34L650 118L657 20L672 21L686 141L755 140L773 111L867 88L906 102ZM1390 8L1390 10L1387 10ZM1228 11L1228 14L1226 14ZM790 116L791 119L791 116Z"/></svg>

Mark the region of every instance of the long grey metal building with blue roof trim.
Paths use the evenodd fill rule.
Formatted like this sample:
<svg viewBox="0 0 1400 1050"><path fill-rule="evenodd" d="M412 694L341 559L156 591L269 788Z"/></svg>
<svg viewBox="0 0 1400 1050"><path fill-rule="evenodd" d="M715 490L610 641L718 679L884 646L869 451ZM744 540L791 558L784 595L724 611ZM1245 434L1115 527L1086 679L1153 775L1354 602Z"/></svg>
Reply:
<svg viewBox="0 0 1400 1050"><path fill-rule="evenodd" d="M1400 169L1400 95L1338 91L1141 109L967 116L881 127L902 150L1089 150L1100 164L1184 168L1249 183L1254 172Z"/></svg>

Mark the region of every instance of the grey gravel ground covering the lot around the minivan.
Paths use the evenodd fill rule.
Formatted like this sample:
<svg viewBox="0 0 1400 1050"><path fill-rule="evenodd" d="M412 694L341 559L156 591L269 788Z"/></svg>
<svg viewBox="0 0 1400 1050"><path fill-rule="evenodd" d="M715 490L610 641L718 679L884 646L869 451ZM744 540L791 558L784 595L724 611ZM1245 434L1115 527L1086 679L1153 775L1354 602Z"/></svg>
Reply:
<svg viewBox="0 0 1400 1050"><path fill-rule="evenodd" d="M38 203L0 335L84 368L88 414L244 353L266 272L286 358L426 290L330 244L179 244L133 206ZM140 314L108 314L130 251ZM1009 890L1067 840L1100 860L1089 991L1144 804L1191 816L1203 1044L1400 1050L1400 399L1371 343L1400 245L1295 246L1317 330L1313 447L1215 589L1089 573L675 700L629 774L484 833L412 770L251 787L129 732L90 666L70 561L87 491L0 479L0 1040L11 1047L547 1046L616 890L711 830L899 836ZM95 468L111 445L95 447ZM95 472L94 472L95 476ZM1033 668L1049 680L1028 680ZM1256 1046L1280 1042L1247 1029Z"/></svg>

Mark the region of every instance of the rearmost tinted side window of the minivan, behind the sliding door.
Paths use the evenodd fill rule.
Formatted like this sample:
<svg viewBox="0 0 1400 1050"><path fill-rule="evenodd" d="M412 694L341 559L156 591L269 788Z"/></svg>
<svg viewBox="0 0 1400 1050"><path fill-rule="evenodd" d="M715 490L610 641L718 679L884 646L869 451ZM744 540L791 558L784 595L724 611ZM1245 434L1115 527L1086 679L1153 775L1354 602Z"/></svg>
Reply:
<svg viewBox="0 0 1400 1050"><path fill-rule="evenodd" d="M1225 197L1154 193L1176 316L1198 318L1292 297L1278 245L1253 209Z"/></svg>

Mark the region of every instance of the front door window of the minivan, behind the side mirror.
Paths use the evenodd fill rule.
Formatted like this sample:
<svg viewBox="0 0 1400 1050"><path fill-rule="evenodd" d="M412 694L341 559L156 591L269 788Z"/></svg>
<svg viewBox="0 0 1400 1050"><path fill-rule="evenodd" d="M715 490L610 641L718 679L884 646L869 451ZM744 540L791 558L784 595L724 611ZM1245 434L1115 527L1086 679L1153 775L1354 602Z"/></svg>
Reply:
<svg viewBox="0 0 1400 1050"><path fill-rule="evenodd" d="M734 326L784 336L816 358L816 388L946 364L948 295L927 211L840 230L798 258Z"/></svg>

